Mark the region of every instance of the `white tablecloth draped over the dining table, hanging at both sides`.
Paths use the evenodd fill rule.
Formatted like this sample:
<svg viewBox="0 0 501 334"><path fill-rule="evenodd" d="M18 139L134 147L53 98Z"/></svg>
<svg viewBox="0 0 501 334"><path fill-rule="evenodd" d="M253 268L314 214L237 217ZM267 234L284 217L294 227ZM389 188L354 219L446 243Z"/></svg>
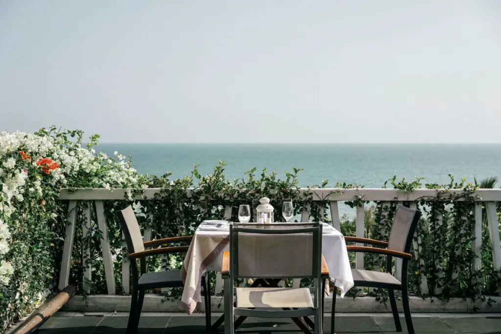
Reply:
<svg viewBox="0 0 501 334"><path fill-rule="evenodd" d="M341 297L353 286L350 261L344 236L331 227L325 226L322 235L322 253L331 282L339 287ZM181 268L184 282L180 308L191 314L201 302L200 283L205 271L221 271L222 253L229 250L229 225L217 230L197 230L191 241Z"/></svg>

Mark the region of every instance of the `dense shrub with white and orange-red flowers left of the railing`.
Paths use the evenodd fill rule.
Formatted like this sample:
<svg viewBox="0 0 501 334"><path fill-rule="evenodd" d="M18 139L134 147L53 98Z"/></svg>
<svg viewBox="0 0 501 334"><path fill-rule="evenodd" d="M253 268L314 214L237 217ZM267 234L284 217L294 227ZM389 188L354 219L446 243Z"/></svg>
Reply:
<svg viewBox="0 0 501 334"><path fill-rule="evenodd" d="M0 133L0 331L55 287L67 204L61 187L136 187L125 157L96 154L99 136L55 127Z"/></svg>

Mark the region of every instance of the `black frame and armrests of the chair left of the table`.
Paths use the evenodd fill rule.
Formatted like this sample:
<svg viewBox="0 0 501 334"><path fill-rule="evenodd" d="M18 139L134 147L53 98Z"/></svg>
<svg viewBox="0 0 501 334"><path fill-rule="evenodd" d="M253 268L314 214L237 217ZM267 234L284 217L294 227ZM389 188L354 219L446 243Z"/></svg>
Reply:
<svg viewBox="0 0 501 334"><path fill-rule="evenodd" d="M126 209L129 209L127 207ZM131 208L130 208L131 209ZM118 211L117 215L120 219L122 225L122 230L124 232L125 241L127 243L127 248L134 249L132 237L127 227L125 217L122 211ZM137 223L137 222L136 222ZM179 272L179 280L156 282L155 284L147 284L146 286L140 286L139 279L142 275L148 275L146 257L156 254L168 254L168 253L183 253L188 251L189 246L170 246L165 247L169 243L179 243L179 242L191 242L193 236L178 236L157 239L153 241L146 241L143 243L145 250L139 252L129 253L130 260L130 270L132 272L132 300L129 313L129 321L127 324L127 334L137 332L139 326L139 318L141 316L141 309L143 307L144 295L147 289L162 288L162 287L179 287L184 286L181 275ZM146 249L155 246L161 246L160 248ZM140 261L140 271L138 273L137 259ZM174 272L179 270L172 270ZM206 272L202 275L201 286L203 289L204 301L205 301L205 329L210 331L210 276Z"/></svg>

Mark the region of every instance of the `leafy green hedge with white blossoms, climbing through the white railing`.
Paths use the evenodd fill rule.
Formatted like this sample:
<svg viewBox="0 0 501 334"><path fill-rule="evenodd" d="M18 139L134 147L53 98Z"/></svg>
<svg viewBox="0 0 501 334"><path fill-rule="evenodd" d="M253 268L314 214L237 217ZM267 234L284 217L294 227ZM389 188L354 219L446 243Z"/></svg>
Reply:
<svg viewBox="0 0 501 334"><path fill-rule="evenodd" d="M224 177L224 163L214 168L212 175L200 175L195 166L191 175L170 179L170 174L162 176L138 175L131 167L130 160L115 154L107 157L96 154L94 147L99 136L90 138L89 144L82 146L82 131L41 129L35 134L0 134L0 329L23 316L41 301L47 292L55 291L61 264L63 238L66 227L68 203L59 201L61 188L131 188L141 192L147 187L162 188L151 201L133 201L128 193L121 201L105 201L105 214L108 223L110 245L114 258L117 293L121 293L122 236L120 224L115 216L116 210L132 203L141 227L152 228L152 238L192 234L198 222L203 219L220 219L224 207L231 205L232 219L236 220L237 207L246 203L256 207L259 198L267 196L271 204L280 208L285 200L295 203L295 212L300 214L305 205L311 206L310 220L324 220L328 217L328 202L312 200L311 192L302 195L298 191L298 173L294 169L281 180L277 173L265 170L260 175L256 168L246 172L242 179L227 180ZM326 187L322 181L313 187ZM356 184L337 183L339 188L362 187ZM391 186L403 191L426 188L461 188L466 192L465 201L455 201L445 192L443 201L421 201L419 207L426 212L416 233L419 261L411 261L409 268L409 288L419 295L421 274L428 281L429 295L435 295L435 287L441 288L439 298L470 297L485 299L484 295L495 293L499 285L498 273L492 267L490 241L486 224L482 229L482 268L472 271L471 252L473 217L472 193L476 184L464 180L455 182L451 177L449 184L424 184L421 179L407 182L396 178L389 180L383 187ZM189 188L193 191L187 192ZM240 192L239 189L247 189ZM447 195L448 194L448 195ZM444 198L442 198L443 200ZM347 202L356 206L365 204L363 198ZM404 203L408 204L408 203ZM92 266L91 294L106 293L106 280L101 259L100 235L96 214L91 211L91 233L87 238L82 235L83 208L79 203L77 237L73 250L70 282L82 291L83 267ZM322 208L325 210L321 217ZM367 237L387 239L395 203L385 205L372 203L366 211ZM281 219L276 210L275 220ZM150 215L152 219L147 219ZM438 224L438 216L443 223ZM342 221L342 232L354 235L355 224L348 217ZM90 257L83 257L83 249L90 248ZM368 269L381 266L383 259L377 255L366 256ZM162 266L179 268L182 258L170 255L167 258L154 256L150 260L150 270L161 270ZM383 265L384 267L384 265ZM439 274L443 272L443 274ZM456 277L457 276L457 277ZM212 282L213 283L213 282ZM305 281L303 284L308 284ZM437 290L439 292L439 290ZM179 289L169 290L167 295L178 297ZM385 301L382 291L376 295Z"/></svg>

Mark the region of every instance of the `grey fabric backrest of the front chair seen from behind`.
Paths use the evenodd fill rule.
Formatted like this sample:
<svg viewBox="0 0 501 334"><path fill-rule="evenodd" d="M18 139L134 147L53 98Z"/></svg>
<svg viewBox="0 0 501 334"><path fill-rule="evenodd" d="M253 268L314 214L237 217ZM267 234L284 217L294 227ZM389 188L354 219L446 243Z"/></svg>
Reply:
<svg viewBox="0 0 501 334"><path fill-rule="evenodd" d="M321 254L320 223L230 225L234 278L318 278Z"/></svg>

